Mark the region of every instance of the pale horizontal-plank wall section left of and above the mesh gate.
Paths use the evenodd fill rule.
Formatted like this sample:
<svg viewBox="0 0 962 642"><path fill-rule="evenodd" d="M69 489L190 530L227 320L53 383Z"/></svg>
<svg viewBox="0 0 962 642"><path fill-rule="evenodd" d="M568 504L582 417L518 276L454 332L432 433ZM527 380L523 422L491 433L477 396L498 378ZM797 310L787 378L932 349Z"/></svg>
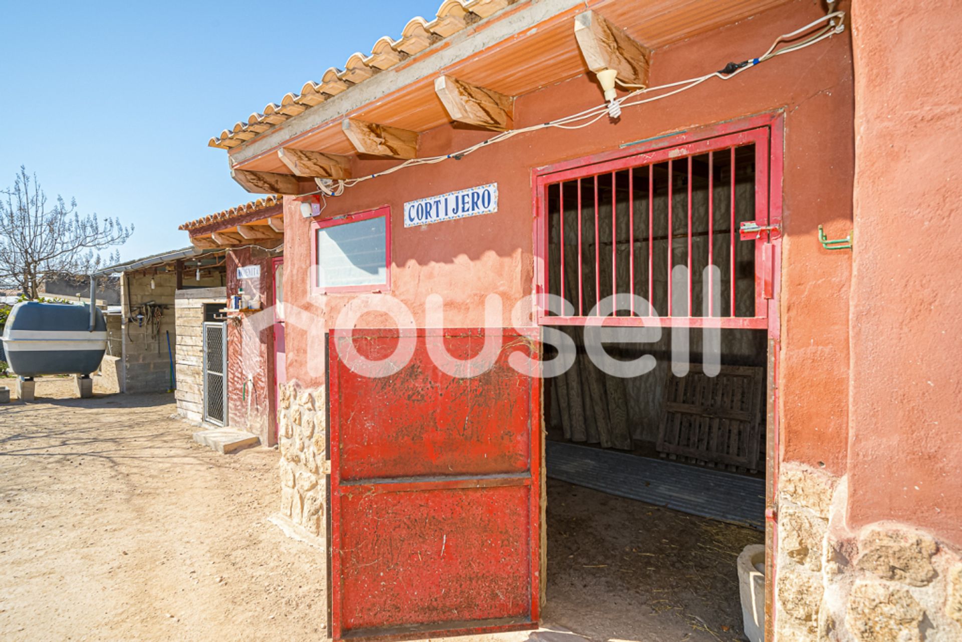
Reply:
<svg viewBox="0 0 962 642"><path fill-rule="evenodd" d="M226 288L178 290L174 301L177 320L177 412L190 422L204 419L204 305L226 304Z"/></svg>

